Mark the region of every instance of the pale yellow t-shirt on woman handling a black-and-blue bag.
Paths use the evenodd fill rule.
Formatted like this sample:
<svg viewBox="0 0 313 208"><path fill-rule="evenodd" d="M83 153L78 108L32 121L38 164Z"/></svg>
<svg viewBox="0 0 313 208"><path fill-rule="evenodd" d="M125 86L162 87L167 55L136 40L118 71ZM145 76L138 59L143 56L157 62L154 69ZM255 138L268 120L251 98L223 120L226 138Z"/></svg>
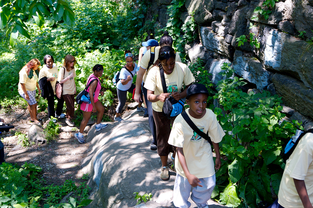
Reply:
<svg viewBox="0 0 313 208"><path fill-rule="evenodd" d="M195 78L187 65L180 62L175 62L173 72L171 74L164 73L164 77L168 93L181 93L183 84L188 85L195 81ZM159 67L155 66L150 69L144 87L148 90L154 91L155 95L163 93ZM162 112L162 107L163 102L160 100L152 103L152 109L157 112Z"/></svg>

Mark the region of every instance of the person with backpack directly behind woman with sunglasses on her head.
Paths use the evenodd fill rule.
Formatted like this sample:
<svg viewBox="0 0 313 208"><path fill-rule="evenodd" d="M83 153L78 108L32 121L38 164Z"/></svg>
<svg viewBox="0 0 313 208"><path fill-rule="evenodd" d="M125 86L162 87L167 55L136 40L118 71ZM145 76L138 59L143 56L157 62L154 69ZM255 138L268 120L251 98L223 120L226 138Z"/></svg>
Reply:
<svg viewBox="0 0 313 208"><path fill-rule="evenodd" d="M151 41L151 40L150 40ZM141 58L140 61L140 68L139 71L137 73L137 78L136 78L136 91L135 91L135 95L134 95L134 100L136 102L141 102L141 98L140 98L140 86L142 86L143 89L143 95L146 99L146 108L147 108L147 112L148 112L148 117L149 117L149 126L151 129L151 133L153 136L153 141L151 142L150 145L150 149L151 150L156 150L157 149L157 141L156 141L156 124L154 123L154 119L153 119L153 114L152 114L152 106L151 106L151 102L147 100L147 89L144 87L144 84L146 82L146 77L147 74L149 72L149 70L151 69L152 65L156 62L157 58L158 58L158 54L159 54L159 50L161 47L163 46L170 46L172 47L173 44L173 39L171 36L168 35L168 32L165 31L163 36L160 38L160 46L156 46L153 45L154 41L151 41L150 43L147 42L143 42L143 45L146 45L147 47L147 52L145 53L145 55ZM150 60L151 59L151 47L156 46L154 48L154 60ZM176 53L175 55L175 61L177 62L182 62L179 54ZM152 63L152 64L150 64Z"/></svg>

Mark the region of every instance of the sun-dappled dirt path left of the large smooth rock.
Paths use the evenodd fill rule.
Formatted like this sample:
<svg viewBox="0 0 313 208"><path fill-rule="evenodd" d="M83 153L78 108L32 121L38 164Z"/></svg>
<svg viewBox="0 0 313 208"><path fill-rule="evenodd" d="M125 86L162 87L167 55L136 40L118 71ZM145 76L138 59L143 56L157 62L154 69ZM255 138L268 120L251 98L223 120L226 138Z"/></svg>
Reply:
<svg viewBox="0 0 313 208"><path fill-rule="evenodd" d="M12 109L10 112L2 110L0 118L3 118L5 123L15 126L11 130L20 130L24 134L28 133L29 127L33 124L29 121L27 109ZM46 121L48 116L42 112L38 113L38 118ZM65 118L59 119L58 123L62 125L59 138L55 142L43 145L22 147L18 144L14 132L3 133L1 140L4 144L4 159L18 165L27 162L40 166L43 178L48 185L61 185L66 179L72 179L76 184L83 182L81 177L84 173L80 170L80 164L87 155L89 144L80 144L74 138L75 132L72 131L72 127L67 126L64 122Z"/></svg>

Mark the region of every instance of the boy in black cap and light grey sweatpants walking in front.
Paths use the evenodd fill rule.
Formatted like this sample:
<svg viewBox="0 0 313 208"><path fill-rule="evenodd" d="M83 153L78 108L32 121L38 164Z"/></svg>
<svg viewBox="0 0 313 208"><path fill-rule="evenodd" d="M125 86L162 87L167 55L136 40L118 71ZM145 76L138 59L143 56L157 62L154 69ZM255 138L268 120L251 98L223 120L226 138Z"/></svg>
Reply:
<svg viewBox="0 0 313 208"><path fill-rule="evenodd" d="M189 108L186 114L195 124L195 128L211 137L216 153L215 170L221 167L218 143L225 135L212 110L206 109L208 90L203 84L192 84L187 89L186 102ZM182 113L185 114L185 113ZM208 137L202 138L179 114L174 121L168 143L176 148L175 168L177 171L173 202L176 207L188 208L191 199L198 208L208 208L207 201L211 198L215 186L215 170L211 145ZM198 129L196 131L198 131ZM202 134L201 134L202 135Z"/></svg>

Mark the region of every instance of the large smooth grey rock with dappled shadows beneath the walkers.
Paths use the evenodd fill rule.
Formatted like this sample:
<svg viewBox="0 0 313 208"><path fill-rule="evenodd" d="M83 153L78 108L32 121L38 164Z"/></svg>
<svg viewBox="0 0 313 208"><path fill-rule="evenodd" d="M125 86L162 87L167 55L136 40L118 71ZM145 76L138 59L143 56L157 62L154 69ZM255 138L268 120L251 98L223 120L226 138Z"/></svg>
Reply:
<svg viewBox="0 0 313 208"><path fill-rule="evenodd" d="M161 160L156 151L150 150L152 136L148 118L143 118L135 109L124 114L123 119L125 121L112 123L103 131L95 132L93 126L88 133L90 154L82 160L92 188L93 201L88 207L133 207L136 205L133 193L139 192L141 195L152 193L153 202L136 207L174 208L176 173L171 171L167 181L160 179ZM191 207L196 205L192 202Z"/></svg>

